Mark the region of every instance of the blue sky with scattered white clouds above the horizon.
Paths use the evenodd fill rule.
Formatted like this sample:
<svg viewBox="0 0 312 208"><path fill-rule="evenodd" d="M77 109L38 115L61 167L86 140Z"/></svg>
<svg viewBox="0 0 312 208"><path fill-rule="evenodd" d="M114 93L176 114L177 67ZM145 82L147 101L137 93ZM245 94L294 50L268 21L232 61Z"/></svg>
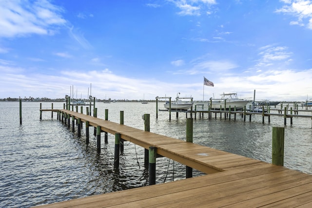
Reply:
<svg viewBox="0 0 312 208"><path fill-rule="evenodd" d="M312 1L0 0L0 74L0 98L304 101Z"/></svg>

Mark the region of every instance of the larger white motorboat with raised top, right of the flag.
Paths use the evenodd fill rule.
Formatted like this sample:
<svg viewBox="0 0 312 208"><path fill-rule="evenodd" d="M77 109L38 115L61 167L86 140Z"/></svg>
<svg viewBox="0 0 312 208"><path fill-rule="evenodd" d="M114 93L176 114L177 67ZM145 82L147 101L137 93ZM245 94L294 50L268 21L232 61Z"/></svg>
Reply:
<svg viewBox="0 0 312 208"><path fill-rule="evenodd" d="M211 109L212 110L229 110L229 106L231 106L231 110L236 109L236 111L240 111L244 109L247 103L250 102L248 99L239 99L237 97L237 93L223 93L221 94L221 99L211 99Z"/></svg>

